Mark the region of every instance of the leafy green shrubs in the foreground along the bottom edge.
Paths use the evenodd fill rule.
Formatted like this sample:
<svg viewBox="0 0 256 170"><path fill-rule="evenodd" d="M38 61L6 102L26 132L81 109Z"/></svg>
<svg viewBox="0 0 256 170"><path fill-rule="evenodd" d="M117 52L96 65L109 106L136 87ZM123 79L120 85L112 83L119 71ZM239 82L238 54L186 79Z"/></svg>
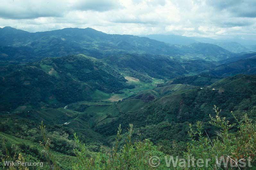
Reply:
<svg viewBox="0 0 256 170"><path fill-rule="evenodd" d="M79 136L74 134L75 149L74 156L65 159L62 162L56 157L56 153L51 150L52 140L46 130L43 122L40 125L42 135L41 146L33 146L27 150L19 150L19 146L10 143L2 135L3 140L1 157L3 169L16 169L16 167L4 166L5 160L12 161L44 161L43 167L34 167L38 169L250 169L256 165L256 122L250 120L245 114L241 120L238 120L233 114L236 123L230 123L225 117L220 117L221 110L214 107L215 115L210 115L209 123L217 128L217 136L209 138L207 131L203 131L202 123L198 121L195 126L189 125L190 139L186 144L185 151L175 143L172 143L172 151L165 154L160 151L159 146L154 145L149 139L140 138L134 140L133 125L122 135L121 125L118 127L117 135L113 148L101 147L100 151L90 151L90 145L82 143ZM194 129L195 128L195 129ZM230 132L235 129L234 132ZM122 142L122 140L124 140ZM11 144L11 145L10 145ZM33 149L32 149L33 148ZM39 149L40 148L40 149ZM41 150L41 151L40 151ZM38 152L35 156L33 152ZM42 155L38 159L38 155ZM179 159L170 161L170 156L184 158L189 162ZM218 161L216 161L216 157ZM197 164L193 162L201 158L209 159L208 164ZM224 161L219 161L224 160ZM248 162L249 161L249 162ZM228 163L226 163L228 162ZM66 165L66 166L65 166ZM199 165L199 166L198 166ZM29 169L31 167L19 166L19 169Z"/></svg>

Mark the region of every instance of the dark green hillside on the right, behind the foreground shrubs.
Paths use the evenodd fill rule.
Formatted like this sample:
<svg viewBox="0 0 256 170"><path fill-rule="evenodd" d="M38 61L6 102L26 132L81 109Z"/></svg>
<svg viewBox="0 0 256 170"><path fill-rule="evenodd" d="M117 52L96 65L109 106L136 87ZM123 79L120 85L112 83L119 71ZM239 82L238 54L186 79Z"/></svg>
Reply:
<svg viewBox="0 0 256 170"><path fill-rule="evenodd" d="M185 127L185 122L195 123L197 120L207 122L208 114L212 112L214 104L225 108L223 111L225 116L230 111L249 112L254 110L254 79L255 76L238 75L203 88L182 84L158 87L154 90L163 96L155 98L144 110L123 114L111 124L103 125L96 130L103 134L108 134L110 131L114 135L113 124L116 126L120 122L124 125L132 122L136 127L144 127L167 121L184 123ZM245 101L247 106L244 105ZM251 116L253 112L250 113Z"/></svg>

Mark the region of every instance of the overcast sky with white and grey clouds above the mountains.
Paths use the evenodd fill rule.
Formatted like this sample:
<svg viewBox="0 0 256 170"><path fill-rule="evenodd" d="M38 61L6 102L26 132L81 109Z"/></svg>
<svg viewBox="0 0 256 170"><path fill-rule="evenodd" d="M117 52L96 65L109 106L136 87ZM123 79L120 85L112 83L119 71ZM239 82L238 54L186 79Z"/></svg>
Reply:
<svg viewBox="0 0 256 170"><path fill-rule="evenodd" d="M256 0L1 0L0 27L256 39Z"/></svg>

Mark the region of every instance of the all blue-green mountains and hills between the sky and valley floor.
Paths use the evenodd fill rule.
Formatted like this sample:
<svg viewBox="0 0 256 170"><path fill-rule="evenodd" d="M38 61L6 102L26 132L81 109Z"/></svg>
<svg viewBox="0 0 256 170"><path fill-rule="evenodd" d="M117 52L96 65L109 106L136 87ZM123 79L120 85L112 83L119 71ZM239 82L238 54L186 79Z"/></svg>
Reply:
<svg viewBox="0 0 256 170"><path fill-rule="evenodd" d="M209 77L209 81L193 85L205 86L214 82L211 80L256 72L255 52L232 53L196 41L170 45L146 37L109 35L92 28L29 33L4 27L0 37L4 40L0 44L2 111L26 103L53 107L90 101L97 90L121 95L123 89L136 87L136 81L152 83L154 79L183 76L194 81L193 76L199 74Z"/></svg>

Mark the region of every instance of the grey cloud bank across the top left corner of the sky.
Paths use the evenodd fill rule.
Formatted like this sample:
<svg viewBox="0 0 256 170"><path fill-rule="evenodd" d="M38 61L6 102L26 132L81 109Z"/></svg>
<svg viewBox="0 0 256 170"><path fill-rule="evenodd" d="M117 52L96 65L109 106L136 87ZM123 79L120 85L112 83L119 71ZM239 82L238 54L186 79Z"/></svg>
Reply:
<svg viewBox="0 0 256 170"><path fill-rule="evenodd" d="M1 2L0 17L4 19L35 19L64 17L72 11L109 11L121 8L115 0L5 0Z"/></svg>

